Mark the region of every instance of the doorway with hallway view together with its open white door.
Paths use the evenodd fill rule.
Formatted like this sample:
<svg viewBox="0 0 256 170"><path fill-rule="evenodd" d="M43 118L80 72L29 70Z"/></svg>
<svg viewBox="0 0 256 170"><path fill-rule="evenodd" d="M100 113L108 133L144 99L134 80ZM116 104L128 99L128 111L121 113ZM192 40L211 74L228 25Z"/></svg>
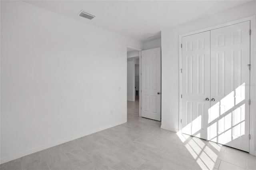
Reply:
<svg viewBox="0 0 256 170"><path fill-rule="evenodd" d="M132 106L130 110L139 117L161 121L161 95L161 48L128 47L127 115Z"/></svg>

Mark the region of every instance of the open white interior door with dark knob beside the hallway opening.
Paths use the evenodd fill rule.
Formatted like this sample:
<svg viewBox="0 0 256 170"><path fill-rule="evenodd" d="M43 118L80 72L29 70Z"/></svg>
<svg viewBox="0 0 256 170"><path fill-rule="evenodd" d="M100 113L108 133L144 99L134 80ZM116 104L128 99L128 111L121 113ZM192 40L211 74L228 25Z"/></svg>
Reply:
<svg viewBox="0 0 256 170"><path fill-rule="evenodd" d="M142 51L141 116L161 121L161 49Z"/></svg>

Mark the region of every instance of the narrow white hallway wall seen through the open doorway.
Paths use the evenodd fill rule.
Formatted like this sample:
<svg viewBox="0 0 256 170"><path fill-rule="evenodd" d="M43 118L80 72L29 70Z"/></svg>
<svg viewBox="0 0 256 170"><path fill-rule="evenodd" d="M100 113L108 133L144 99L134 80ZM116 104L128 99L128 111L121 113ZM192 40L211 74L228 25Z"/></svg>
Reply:
<svg viewBox="0 0 256 170"><path fill-rule="evenodd" d="M134 63L134 58L127 59L127 100L135 101L135 63Z"/></svg>

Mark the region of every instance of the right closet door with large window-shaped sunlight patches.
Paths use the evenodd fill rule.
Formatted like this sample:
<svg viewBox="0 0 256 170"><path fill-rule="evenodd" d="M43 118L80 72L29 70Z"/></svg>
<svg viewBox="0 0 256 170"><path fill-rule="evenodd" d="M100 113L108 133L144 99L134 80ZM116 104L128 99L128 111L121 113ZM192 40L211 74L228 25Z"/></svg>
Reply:
<svg viewBox="0 0 256 170"><path fill-rule="evenodd" d="M250 21L211 30L210 139L249 151Z"/></svg>

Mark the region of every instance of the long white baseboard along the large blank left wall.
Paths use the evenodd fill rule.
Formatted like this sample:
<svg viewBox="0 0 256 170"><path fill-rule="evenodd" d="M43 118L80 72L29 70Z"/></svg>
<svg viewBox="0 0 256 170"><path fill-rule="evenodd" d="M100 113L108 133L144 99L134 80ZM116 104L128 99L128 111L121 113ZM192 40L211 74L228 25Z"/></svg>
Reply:
<svg viewBox="0 0 256 170"><path fill-rule="evenodd" d="M41 151L41 150L53 147L53 146L57 146L59 144L66 143L66 142L69 142L71 140L75 140L75 139L81 138L83 136L87 136L89 134L93 134L93 133L99 132L101 130L105 130L107 128L111 128L111 127L115 127L117 125L121 125L123 123L126 123L126 122L122 122L122 123L117 123L117 124L112 124L112 125L107 125L107 126L104 126L104 127L96 128L94 130L90 130L90 131L84 132L82 134L77 134L77 135L74 135L74 136L71 136L71 137L68 137L68 138L64 138L64 139L55 141L55 142L44 144L42 146L38 146L36 148L32 148L32 149L26 150L26 151L18 153L18 154L13 154L11 156L6 156L4 158L1 158L0 162L1 162L1 164L3 164L5 162L9 162L11 160L14 160L14 159L17 159L17 158L21 158L22 156L26 156L26 155L29 155L29 154L32 154L32 153L35 153L35 152L38 152L38 151Z"/></svg>

